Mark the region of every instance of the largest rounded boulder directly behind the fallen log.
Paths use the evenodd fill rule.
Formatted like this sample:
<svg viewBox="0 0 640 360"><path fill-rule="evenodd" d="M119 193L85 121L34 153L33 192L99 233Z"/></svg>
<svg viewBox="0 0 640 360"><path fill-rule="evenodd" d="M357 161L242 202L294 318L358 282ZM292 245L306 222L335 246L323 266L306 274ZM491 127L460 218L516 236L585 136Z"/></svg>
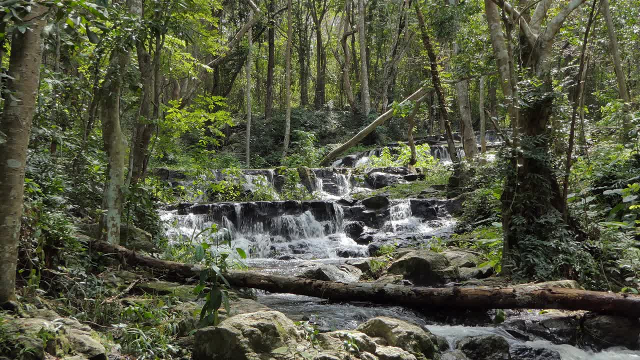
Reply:
<svg viewBox="0 0 640 360"><path fill-rule="evenodd" d="M456 276L456 269L449 267L449 260L436 252L411 250L404 252L387 270L390 275L404 275L418 286L444 284Z"/></svg>

